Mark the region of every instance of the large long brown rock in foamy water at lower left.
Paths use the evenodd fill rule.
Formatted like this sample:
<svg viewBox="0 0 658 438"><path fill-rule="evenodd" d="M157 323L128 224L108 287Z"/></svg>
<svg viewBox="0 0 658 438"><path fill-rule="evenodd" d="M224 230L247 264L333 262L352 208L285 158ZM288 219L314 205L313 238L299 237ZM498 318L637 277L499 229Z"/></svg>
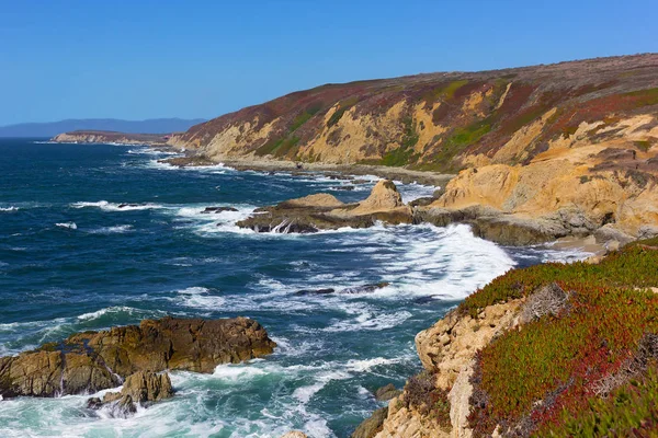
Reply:
<svg viewBox="0 0 658 438"><path fill-rule="evenodd" d="M212 372L219 364L269 355L275 345L258 322L246 318L144 320L138 326L79 333L0 358L0 395L97 392L139 371Z"/></svg>

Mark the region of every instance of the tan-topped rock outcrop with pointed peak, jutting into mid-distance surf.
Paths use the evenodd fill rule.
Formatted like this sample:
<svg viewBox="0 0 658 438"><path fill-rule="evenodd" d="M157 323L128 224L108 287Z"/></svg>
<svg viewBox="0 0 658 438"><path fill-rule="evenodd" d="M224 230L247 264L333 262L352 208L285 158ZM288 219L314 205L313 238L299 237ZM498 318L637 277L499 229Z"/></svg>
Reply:
<svg viewBox="0 0 658 438"><path fill-rule="evenodd" d="M345 205L329 194L316 194L291 199L272 207L259 208L238 227L258 232L311 233L343 227L367 228L376 221L411 223L413 212L402 204L395 184L382 180L367 199Z"/></svg>

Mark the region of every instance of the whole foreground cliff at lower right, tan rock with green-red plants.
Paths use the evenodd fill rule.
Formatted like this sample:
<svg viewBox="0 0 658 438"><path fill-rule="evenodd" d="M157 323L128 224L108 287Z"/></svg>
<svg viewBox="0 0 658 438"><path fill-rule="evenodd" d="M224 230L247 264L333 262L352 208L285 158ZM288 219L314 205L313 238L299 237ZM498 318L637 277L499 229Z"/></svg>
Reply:
<svg viewBox="0 0 658 438"><path fill-rule="evenodd" d="M417 335L424 370L359 436L654 436L657 243L495 279Z"/></svg>

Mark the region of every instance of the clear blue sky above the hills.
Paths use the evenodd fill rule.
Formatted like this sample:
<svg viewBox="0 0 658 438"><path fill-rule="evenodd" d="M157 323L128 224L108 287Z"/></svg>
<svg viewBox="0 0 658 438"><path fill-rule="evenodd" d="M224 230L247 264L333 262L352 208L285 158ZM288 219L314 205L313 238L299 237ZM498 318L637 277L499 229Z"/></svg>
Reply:
<svg viewBox="0 0 658 438"><path fill-rule="evenodd" d="M658 1L0 0L0 125L215 117L327 82L658 51Z"/></svg>

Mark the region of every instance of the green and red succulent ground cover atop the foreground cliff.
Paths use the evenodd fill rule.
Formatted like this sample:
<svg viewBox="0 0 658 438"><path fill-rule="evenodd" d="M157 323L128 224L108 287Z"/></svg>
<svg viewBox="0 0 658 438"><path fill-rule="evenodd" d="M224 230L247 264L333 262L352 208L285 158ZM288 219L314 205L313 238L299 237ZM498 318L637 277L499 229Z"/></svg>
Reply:
<svg viewBox="0 0 658 438"><path fill-rule="evenodd" d="M598 397L594 388L627 370L647 336L656 338L658 295L647 290L658 286L656 244L658 239L627 245L600 264L514 269L460 306L462 314L477 318L487 306L531 296L547 285L567 292L555 312L507 332L478 353L469 416L474 436L490 436L496 425L520 427L519 436L594 437L606 436L592 431L603 430L599 427L626 430L645 420L655 424L654 377L605 399ZM658 355L658 346L651 351ZM635 410L615 400L637 400L645 407ZM619 425L625 429L616 429Z"/></svg>

